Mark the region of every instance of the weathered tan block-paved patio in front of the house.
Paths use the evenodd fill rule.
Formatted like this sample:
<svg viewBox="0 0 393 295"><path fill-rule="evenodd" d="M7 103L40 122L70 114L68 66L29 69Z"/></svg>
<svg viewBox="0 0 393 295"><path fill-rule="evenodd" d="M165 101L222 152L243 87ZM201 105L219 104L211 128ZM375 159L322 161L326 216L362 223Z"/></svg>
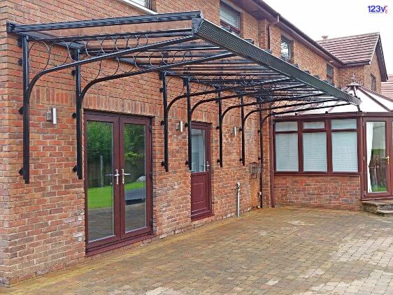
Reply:
<svg viewBox="0 0 393 295"><path fill-rule="evenodd" d="M393 217L273 208L245 213L4 294L393 294Z"/></svg>

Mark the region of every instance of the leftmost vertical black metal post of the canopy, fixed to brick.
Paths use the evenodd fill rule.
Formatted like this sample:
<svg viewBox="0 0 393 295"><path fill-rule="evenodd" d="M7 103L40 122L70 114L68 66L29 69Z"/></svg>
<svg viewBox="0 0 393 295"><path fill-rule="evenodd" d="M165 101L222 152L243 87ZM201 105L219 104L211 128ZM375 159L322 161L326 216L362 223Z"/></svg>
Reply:
<svg viewBox="0 0 393 295"><path fill-rule="evenodd" d="M30 80L29 80L29 37L22 36L22 72L23 72L23 106L20 113L23 115L23 167L19 173L24 183L30 183Z"/></svg>

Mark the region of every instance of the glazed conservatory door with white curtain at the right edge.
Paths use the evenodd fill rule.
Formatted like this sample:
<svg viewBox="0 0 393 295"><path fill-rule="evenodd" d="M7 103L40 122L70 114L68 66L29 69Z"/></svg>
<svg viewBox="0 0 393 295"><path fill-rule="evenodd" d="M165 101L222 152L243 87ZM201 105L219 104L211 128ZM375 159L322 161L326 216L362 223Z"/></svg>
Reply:
<svg viewBox="0 0 393 295"><path fill-rule="evenodd" d="M365 123L365 196L393 196L392 119L373 118Z"/></svg>

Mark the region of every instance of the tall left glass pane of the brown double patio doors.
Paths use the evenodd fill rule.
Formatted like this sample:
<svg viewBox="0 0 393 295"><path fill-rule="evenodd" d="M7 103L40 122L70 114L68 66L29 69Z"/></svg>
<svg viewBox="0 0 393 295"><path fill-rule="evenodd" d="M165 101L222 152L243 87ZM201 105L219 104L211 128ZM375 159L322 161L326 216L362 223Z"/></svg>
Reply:
<svg viewBox="0 0 393 295"><path fill-rule="evenodd" d="M113 124L87 121L88 241L114 235Z"/></svg>

